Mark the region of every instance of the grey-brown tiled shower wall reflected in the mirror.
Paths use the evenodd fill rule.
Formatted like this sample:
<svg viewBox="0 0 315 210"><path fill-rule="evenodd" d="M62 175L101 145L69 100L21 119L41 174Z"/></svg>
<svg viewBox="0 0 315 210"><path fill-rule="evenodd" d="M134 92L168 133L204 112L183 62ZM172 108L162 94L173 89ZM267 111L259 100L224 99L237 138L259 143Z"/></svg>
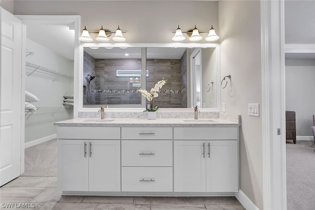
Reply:
<svg viewBox="0 0 315 210"><path fill-rule="evenodd" d="M90 55L86 54L85 61L91 62ZM91 87L93 87L91 104L141 104L142 96L137 92L137 85L132 86L133 83L141 83L141 78L138 77L136 81L133 77L133 81L130 82L130 77L116 76L116 70L141 70L141 59L95 59L94 62L95 79L91 81ZM88 74L86 72L91 72L88 68L93 68L93 65L84 65L84 75ZM146 78L147 90L154 87L162 77L167 79L166 84L158 93L158 98L154 99L154 105L162 108L187 107L186 52L179 60L147 59L147 70L149 71L149 77ZM83 91L85 97L83 104L90 104L86 101L87 89L84 88Z"/></svg>

